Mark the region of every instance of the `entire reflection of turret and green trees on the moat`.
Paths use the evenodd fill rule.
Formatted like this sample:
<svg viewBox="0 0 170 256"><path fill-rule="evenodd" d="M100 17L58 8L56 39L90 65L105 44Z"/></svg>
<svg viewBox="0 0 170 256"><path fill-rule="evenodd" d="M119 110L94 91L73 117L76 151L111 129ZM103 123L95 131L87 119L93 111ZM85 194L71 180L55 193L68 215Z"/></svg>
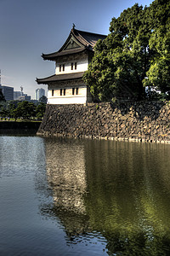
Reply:
<svg viewBox="0 0 170 256"><path fill-rule="evenodd" d="M54 205L42 212L70 241L93 234L108 254L170 253L169 145L58 138L45 148Z"/></svg>

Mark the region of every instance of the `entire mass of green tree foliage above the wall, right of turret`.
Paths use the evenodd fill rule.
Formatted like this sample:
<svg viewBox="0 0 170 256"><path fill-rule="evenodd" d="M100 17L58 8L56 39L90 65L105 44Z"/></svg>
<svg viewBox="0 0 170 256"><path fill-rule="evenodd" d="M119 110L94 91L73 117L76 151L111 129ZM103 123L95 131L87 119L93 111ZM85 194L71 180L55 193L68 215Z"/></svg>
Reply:
<svg viewBox="0 0 170 256"><path fill-rule="evenodd" d="M150 7L135 3L111 20L110 34L99 40L84 81L101 101L142 99L144 86L169 93L170 2Z"/></svg>

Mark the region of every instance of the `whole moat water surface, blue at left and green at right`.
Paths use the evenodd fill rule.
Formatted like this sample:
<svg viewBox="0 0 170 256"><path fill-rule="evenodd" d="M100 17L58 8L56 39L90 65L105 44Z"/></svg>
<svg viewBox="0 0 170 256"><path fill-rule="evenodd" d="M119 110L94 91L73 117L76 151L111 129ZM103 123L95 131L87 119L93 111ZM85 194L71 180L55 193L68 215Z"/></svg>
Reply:
<svg viewBox="0 0 170 256"><path fill-rule="evenodd" d="M170 145L1 136L0 255L170 255Z"/></svg>

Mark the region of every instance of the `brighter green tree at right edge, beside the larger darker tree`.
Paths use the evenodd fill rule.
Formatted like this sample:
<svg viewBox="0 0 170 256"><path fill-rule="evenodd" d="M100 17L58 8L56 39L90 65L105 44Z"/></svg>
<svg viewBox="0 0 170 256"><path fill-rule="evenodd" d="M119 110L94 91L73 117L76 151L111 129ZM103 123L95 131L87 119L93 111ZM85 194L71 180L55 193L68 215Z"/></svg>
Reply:
<svg viewBox="0 0 170 256"><path fill-rule="evenodd" d="M156 0L148 9L150 15L150 49L155 52L146 73L144 85L161 90L170 98L170 2Z"/></svg>

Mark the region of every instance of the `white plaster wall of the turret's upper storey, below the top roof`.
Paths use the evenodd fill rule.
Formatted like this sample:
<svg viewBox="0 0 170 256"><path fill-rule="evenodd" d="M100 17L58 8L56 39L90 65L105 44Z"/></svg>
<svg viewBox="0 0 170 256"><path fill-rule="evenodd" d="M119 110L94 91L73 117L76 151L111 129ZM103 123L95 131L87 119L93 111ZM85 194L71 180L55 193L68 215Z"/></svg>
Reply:
<svg viewBox="0 0 170 256"><path fill-rule="evenodd" d="M71 62L73 65L73 70L71 70ZM75 69L75 62L77 62L77 69ZM59 65L65 64L65 71L63 71L63 67L61 68L61 72L59 72ZM85 60L81 61L69 61L69 62L61 62L57 63L55 67L55 74L64 74L64 73L77 73L88 70L88 57Z"/></svg>

